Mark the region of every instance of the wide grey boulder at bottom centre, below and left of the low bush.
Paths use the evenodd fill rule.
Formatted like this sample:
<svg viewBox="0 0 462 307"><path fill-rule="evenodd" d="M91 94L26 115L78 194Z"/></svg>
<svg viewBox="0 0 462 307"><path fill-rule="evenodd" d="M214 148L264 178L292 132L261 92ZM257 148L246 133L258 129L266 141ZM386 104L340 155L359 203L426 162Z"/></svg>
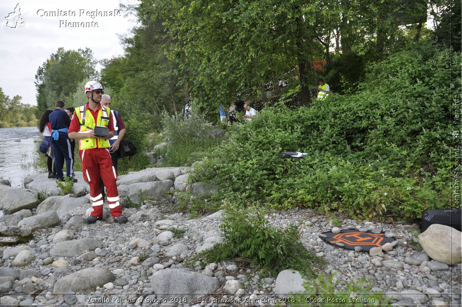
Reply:
<svg viewBox="0 0 462 307"><path fill-rule="evenodd" d="M160 270L152 275L151 285L157 297L168 302L175 293L182 293L191 302L220 288L217 278L188 269Z"/></svg>

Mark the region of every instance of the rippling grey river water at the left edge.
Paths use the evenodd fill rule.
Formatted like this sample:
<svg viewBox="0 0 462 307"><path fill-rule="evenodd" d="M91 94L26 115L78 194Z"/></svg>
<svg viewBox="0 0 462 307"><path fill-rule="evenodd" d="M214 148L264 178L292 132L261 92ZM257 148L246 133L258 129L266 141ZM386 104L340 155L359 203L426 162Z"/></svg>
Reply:
<svg viewBox="0 0 462 307"><path fill-rule="evenodd" d="M37 127L0 128L0 179L10 180L11 186L23 187L25 176L46 172L46 165L38 169L34 166L39 159L36 147L42 140Z"/></svg>

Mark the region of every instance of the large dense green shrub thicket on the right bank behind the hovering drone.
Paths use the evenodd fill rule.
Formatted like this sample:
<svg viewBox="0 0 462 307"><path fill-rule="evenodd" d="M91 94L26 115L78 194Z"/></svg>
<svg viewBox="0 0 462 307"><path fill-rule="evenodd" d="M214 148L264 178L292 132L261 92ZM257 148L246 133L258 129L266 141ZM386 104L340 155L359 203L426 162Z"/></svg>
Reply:
<svg viewBox="0 0 462 307"><path fill-rule="evenodd" d="M353 94L265 108L208 151L191 180L215 182L230 201L276 209L409 219L444 208L454 149L449 93L461 91L447 80L461 74L457 58L421 42L370 64ZM291 150L308 155L279 161Z"/></svg>

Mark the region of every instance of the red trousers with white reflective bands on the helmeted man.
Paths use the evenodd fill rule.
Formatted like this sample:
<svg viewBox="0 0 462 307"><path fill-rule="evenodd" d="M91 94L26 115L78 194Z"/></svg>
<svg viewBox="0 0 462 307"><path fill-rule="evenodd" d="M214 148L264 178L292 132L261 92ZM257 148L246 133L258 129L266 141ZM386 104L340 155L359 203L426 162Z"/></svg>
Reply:
<svg viewBox="0 0 462 307"><path fill-rule="evenodd" d="M122 215L116 185L117 174L114 166L112 166L108 149L91 148L79 150L79 154L82 160L84 180L90 185L90 199L93 207L90 216L103 217L103 195L99 188L100 177L106 187L106 196L112 217Z"/></svg>

